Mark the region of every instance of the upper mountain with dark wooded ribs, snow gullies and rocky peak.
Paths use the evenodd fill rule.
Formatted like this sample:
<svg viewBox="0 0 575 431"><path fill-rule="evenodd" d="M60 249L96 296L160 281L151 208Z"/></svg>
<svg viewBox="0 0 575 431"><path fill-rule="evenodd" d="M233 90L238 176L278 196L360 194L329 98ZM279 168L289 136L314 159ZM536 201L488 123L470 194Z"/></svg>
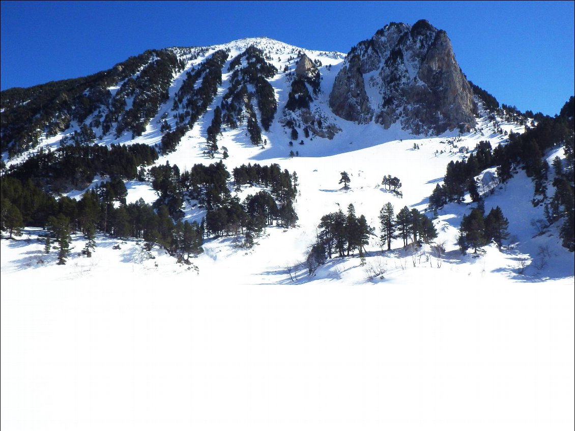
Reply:
<svg viewBox="0 0 575 431"><path fill-rule="evenodd" d="M386 25L347 56L258 37L152 49L94 75L10 88L2 91L1 151L11 158L66 131L81 134L82 143L135 138L158 120L159 149L173 151L210 111L218 89L225 93L222 121L234 127L249 118L254 144L258 122L266 132L275 123L293 136L329 140L342 131L338 117L426 135L476 125L471 87L447 34L421 20Z"/></svg>

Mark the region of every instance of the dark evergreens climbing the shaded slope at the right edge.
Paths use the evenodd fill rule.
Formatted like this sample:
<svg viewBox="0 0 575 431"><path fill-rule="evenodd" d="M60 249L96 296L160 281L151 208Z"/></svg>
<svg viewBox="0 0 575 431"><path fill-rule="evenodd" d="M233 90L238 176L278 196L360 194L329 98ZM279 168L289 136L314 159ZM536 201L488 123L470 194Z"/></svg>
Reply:
<svg viewBox="0 0 575 431"><path fill-rule="evenodd" d="M503 105L506 110L516 112L513 107ZM560 236L563 247L570 251L575 249L574 225L574 118L575 102L571 97L562 107L558 116L554 118L542 117L534 128L527 129L523 134L510 133L507 144L501 144L491 149L489 141L481 141L476 152L467 160L450 161L447 165L443 184L438 184L430 196L430 208L438 209L447 202L460 202L466 191L469 191L474 202L481 200L477 191L474 176L488 167L497 167L497 177L500 182L511 179L515 170L522 167L527 176L532 178L535 186L533 205L545 205L546 219L549 224L562 220ZM517 114L519 115L519 114ZM554 178L549 179L551 170L543 155L555 145L563 145L565 148L565 161L556 159L553 163ZM553 197L547 196L547 188L552 185L555 188ZM470 220L480 224L480 217L473 214ZM469 221L471 223L471 221ZM481 229L474 229L478 231ZM471 235L473 237L474 234ZM464 236L465 237L465 236ZM480 237L479 243L473 240L473 244L480 244L488 238ZM497 241L497 238L495 238ZM475 247L475 245L474 245ZM478 245L479 247L479 245Z"/></svg>

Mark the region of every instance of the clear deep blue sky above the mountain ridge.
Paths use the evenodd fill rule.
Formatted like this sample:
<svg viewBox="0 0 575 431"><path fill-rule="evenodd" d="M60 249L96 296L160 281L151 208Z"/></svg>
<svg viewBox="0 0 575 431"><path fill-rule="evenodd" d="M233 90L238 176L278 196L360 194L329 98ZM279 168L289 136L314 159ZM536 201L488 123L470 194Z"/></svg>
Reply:
<svg viewBox="0 0 575 431"><path fill-rule="evenodd" d="M467 78L553 116L574 94L574 2L2 1L1 89L108 69L146 49L252 36L348 50L391 21L446 30Z"/></svg>

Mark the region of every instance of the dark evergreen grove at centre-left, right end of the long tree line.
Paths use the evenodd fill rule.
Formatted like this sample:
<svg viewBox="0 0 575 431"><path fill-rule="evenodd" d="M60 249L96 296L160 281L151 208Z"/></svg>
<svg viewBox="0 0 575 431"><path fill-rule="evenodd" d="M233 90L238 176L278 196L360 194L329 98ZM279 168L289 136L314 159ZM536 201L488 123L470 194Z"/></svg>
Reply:
<svg viewBox="0 0 575 431"><path fill-rule="evenodd" d="M297 193L297 174L271 166L242 165L233 170L236 190L244 184L259 185L270 191L248 195L243 202L232 197L227 186L230 175L224 164L204 166L196 164L190 171L180 172L177 166L155 166L150 169L152 187L159 198L155 208L165 207L168 214L178 220L183 216L184 199L197 199L208 210L205 218L206 233L214 236L246 234L246 244L252 245L265 226L274 222L284 227L298 220L293 208Z"/></svg>

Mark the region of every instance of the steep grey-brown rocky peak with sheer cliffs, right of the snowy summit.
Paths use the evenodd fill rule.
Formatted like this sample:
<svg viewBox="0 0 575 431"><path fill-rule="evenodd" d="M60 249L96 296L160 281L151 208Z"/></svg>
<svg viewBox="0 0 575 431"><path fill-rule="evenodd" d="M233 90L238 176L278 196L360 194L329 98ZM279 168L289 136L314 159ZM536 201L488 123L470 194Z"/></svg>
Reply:
<svg viewBox="0 0 575 431"><path fill-rule="evenodd" d="M336 76L329 106L358 123L389 128L400 122L416 134L476 125L471 87L446 32L425 20L392 22L353 47Z"/></svg>

